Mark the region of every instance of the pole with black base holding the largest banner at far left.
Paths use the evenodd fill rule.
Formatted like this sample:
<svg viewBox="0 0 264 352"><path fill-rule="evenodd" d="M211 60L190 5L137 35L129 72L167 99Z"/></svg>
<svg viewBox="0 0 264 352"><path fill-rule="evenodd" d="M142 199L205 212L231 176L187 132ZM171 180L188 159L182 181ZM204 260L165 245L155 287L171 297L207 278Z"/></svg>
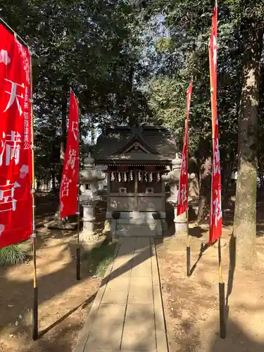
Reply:
<svg viewBox="0 0 264 352"><path fill-rule="evenodd" d="M31 151L32 151L32 245L33 245L33 310L32 310L32 339L38 338L38 287L37 287L37 236L36 236L36 205L34 179L34 115L33 115L33 79L32 58L30 54L30 102L31 102Z"/></svg>

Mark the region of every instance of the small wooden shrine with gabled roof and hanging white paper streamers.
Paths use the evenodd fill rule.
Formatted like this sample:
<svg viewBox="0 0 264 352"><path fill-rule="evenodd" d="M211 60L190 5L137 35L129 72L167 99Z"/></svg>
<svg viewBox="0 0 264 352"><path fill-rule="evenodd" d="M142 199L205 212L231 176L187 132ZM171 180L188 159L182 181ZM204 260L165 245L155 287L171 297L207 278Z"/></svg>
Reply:
<svg viewBox="0 0 264 352"><path fill-rule="evenodd" d="M107 215L120 218L165 219L165 185L162 175L175 158L175 139L162 127L107 128L97 139L96 165L108 174ZM142 216L143 215L143 216Z"/></svg>

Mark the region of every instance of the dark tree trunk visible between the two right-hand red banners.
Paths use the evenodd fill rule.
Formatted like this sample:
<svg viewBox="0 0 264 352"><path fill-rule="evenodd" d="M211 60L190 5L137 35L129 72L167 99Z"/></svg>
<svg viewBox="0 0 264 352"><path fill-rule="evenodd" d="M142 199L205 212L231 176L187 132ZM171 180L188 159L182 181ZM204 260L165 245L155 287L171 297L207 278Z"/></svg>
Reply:
<svg viewBox="0 0 264 352"><path fill-rule="evenodd" d="M199 171L199 208L197 222L206 222L210 212L210 182L211 182L212 159L209 156L200 165Z"/></svg>

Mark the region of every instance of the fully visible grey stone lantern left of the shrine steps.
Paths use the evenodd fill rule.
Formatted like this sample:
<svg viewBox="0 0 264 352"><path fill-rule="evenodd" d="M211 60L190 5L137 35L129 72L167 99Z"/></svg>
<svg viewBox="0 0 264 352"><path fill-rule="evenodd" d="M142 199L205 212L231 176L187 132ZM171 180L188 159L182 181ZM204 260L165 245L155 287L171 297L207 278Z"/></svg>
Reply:
<svg viewBox="0 0 264 352"><path fill-rule="evenodd" d="M80 203L83 208L83 228L80 232L80 241L86 242L98 241L98 234L94 234L95 206L101 201L98 195L98 182L104 180L106 174L96 170L94 166L94 158L91 153L84 158L84 170L80 172Z"/></svg>

